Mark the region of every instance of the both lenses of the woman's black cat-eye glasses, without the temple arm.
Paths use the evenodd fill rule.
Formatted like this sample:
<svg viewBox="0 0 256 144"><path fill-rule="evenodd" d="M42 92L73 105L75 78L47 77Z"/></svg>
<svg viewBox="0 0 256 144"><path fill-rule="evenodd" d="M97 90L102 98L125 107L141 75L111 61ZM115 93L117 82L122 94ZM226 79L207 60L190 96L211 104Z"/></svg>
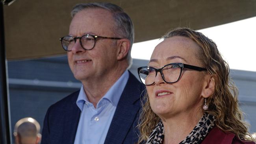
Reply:
<svg viewBox="0 0 256 144"><path fill-rule="evenodd" d="M167 65L162 68L163 78L168 83L178 81L180 77L181 67L179 65ZM139 71L141 81L145 85L151 85L156 78L156 70L154 68L145 67Z"/></svg>

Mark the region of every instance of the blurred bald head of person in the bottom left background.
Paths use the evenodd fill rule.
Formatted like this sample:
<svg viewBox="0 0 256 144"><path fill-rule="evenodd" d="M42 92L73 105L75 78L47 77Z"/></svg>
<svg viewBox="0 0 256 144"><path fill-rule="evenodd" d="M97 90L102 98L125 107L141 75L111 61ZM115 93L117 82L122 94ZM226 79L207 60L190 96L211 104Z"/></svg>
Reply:
<svg viewBox="0 0 256 144"><path fill-rule="evenodd" d="M40 125L33 118L22 118L15 124L13 135L15 144L39 144Z"/></svg>

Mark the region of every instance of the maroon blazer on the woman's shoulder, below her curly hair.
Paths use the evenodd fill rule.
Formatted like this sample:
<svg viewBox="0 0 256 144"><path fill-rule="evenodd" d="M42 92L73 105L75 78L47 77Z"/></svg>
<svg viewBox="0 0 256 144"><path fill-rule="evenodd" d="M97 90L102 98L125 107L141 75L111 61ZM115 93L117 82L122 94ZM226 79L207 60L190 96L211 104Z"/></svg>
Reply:
<svg viewBox="0 0 256 144"><path fill-rule="evenodd" d="M255 142L244 142L239 140L234 133L224 133L217 126L211 129L201 144L255 144Z"/></svg>

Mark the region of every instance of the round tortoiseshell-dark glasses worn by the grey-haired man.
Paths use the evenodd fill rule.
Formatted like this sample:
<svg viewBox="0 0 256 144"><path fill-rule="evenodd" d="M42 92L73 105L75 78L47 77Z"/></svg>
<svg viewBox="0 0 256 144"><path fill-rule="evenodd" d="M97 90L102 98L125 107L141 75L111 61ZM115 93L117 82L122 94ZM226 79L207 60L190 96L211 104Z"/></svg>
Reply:
<svg viewBox="0 0 256 144"><path fill-rule="evenodd" d="M96 39L98 39L98 38L122 39L122 38L117 38L117 37L101 37L101 36L86 34L81 37L72 37L72 36L68 35L68 36L59 38L59 40L61 41L61 45L62 45L63 49L66 51L72 50L72 47L74 46L77 39L79 39L79 42L83 49L91 50L94 48Z"/></svg>

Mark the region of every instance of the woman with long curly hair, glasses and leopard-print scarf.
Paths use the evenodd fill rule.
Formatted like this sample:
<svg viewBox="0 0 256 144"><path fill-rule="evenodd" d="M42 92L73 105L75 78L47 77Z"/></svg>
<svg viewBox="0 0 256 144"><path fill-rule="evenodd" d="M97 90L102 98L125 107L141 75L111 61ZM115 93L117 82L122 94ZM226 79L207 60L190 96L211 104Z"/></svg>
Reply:
<svg viewBox="0 0 256 144"><path fill-rule="evenodd" d="M216 44L188 28L163 39L138 68L147 88L139 143L254 144Z"/></svg>

